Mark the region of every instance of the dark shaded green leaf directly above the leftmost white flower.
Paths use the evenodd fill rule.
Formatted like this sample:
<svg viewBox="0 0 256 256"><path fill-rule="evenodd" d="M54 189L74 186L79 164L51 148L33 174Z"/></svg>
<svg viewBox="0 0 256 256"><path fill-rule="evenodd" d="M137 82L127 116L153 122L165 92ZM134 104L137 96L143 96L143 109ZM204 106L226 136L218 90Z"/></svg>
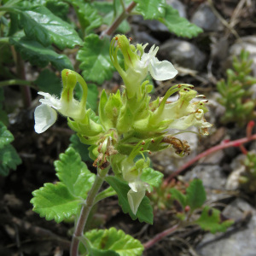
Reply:
<svg viewBox="0 0 256 256"><path fill-rule="evenodd" d="M38 79L34 81L34 84L38 85L39 90L48 92L51 95L61 96L61 79L49 69L44 69L39 73Z"/></svg>

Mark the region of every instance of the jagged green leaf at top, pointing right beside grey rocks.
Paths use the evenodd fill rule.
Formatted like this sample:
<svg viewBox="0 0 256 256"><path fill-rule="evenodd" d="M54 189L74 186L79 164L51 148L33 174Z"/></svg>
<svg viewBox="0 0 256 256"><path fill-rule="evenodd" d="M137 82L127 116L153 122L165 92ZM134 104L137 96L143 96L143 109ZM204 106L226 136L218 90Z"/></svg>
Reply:
<svg viewBox="0 0 256 256"><path fill-rule="evenodd" d="M158 20L165 24L170 32L175 33L178 37L193 38L203 32L200 27L180 17L177 9L173 9L170 5L166 5L166 15Z"/></svg>

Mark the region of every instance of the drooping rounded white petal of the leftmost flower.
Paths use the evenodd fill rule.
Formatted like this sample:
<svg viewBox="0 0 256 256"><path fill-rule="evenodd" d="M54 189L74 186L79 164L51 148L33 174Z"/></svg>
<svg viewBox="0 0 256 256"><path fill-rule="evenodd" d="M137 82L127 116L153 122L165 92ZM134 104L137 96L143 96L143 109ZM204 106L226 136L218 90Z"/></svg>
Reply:
<svg viewBox="0 0 256 256"><path fill-rule="evenodd" d="M35 110L35 131L42 133L53 125L57 119L57 113L48 105L41 104Z"/></svg>

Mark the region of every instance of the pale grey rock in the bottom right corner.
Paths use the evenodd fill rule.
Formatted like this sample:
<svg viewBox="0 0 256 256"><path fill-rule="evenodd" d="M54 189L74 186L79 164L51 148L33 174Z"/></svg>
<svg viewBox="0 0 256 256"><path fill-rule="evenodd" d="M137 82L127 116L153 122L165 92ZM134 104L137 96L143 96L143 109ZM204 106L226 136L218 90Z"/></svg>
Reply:
<svg viewBox="0 0 256 256"><path fill-rule="evenodd" d="M246 201L236 199L224 210L228 218L241 218L244 211L251 211L253 218L246 227L230 230L226 234L207 234L196 247L201 256L254 256L256 252L256 211Z"/></svg>

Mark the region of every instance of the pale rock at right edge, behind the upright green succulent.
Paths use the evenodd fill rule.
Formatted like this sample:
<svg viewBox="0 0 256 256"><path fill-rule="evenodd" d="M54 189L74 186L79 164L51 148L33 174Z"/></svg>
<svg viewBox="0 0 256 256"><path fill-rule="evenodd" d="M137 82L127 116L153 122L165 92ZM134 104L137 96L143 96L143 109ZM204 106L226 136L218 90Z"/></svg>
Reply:
<svg viewBox="0 0 256 256"><path fill-rule="evenodd" d="M253 60L253 75L256 76L256 36L239 38L239 40L230 47L230 55L240 55L241 49L245 49L250 53L250 59Z"/></svg>

